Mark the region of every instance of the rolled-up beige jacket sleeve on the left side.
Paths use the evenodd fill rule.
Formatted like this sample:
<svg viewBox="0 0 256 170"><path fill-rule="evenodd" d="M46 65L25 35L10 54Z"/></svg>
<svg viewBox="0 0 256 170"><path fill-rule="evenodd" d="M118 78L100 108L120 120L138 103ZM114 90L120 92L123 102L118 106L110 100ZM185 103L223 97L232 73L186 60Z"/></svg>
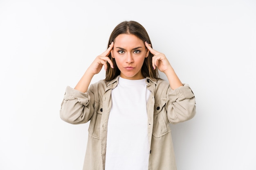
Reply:
<svg viewBox="0 0 256 170"><path fill-rule="evenodd" d="M93 114L92 93L80 92L69 86L66 87L63 101L61 103L60 117L70 124L86 123Z"/></svg>

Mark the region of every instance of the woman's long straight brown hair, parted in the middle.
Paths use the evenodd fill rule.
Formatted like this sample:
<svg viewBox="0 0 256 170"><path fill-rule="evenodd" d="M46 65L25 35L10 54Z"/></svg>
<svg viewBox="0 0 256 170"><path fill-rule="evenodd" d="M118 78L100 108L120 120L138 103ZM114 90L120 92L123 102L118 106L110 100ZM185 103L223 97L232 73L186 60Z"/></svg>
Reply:
<svg viewBox="0 0 256 170"><path fill-rule="evenodd" d="M137 36L139 39L141 39L143 42L147 41L148 44L151 44L151 41L149 39L148 33L146 29L139 24L138 22L135 21L124 21L118 24L114 30L112 31L110 38L108 40L108 46L111 44L112 41L115 40L115 38L120 35L120 34L132 34ZM152 47L152 44L151 44ZM153 47L152 47L153 48ZM152 66L152 57L154 55L149 52L148 57L144 59L144 63L141 68L141 74L144 77L150 77L150 78L158 78L158 70L157 68L153 68ZM111 81L113 80L116 76L120 75L120 70L117 68L117 64L115 62L115 59L111 57L111 53L108 55L108 57L111 59L111 61L114 64L114 68L110 67L110 64L107 63L108 68L106 71L106 81Z"/></svg>

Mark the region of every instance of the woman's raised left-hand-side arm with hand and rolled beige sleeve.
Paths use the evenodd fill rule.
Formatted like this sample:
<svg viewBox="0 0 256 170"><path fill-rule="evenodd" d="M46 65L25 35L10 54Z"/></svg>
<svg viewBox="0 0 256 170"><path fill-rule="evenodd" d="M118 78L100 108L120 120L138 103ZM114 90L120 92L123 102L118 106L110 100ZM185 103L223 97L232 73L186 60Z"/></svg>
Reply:
<svg viewBox="0 0 256 170"><path fill-rule="evenodd" d="M91 86L88 90L92 77L101 71L104 65L105 70L107 69L107 63L110 63L113 68L113 63L106 57L110 54L114 43L110 44L109 48L101 55L96 57L89 68L85 71L76 87L66 88L63 102L61 103L60 117L65 122L71 124L86 123L90 120L94 113L94 87Z"/></svg>

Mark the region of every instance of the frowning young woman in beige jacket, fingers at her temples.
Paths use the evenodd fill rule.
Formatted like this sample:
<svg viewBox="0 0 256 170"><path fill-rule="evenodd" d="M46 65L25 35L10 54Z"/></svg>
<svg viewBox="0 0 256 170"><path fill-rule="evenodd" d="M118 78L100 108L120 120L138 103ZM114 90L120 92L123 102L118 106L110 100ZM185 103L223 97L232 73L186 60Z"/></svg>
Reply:
<svg viewBox="0 0 256 170"><path fill-rule="evenodd" d="M103 66L105 80L90 85ZM83 170L176 170L169 124L194 115L190 87L135 21L114 28L108 49L66 88L60 110L68 123L90 121Z"/></svg>

